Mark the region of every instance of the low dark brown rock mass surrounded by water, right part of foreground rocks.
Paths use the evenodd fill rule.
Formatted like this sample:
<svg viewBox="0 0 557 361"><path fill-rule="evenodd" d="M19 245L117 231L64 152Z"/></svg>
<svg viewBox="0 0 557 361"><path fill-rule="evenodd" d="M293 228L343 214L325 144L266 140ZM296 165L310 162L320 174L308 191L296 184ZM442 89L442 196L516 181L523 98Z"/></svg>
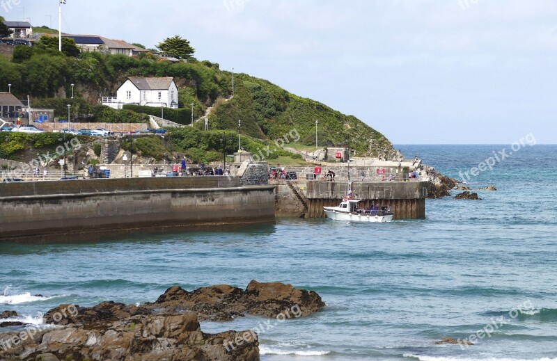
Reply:
<svg viewBox="0 0 557 361"><path fill-rule="evenodd" d="M295 289L290 284L249 282L243 290L221 284L186 291L171 287L159 299L146 305L153 310L196 312L201 320L231 321L235 317L276 317L284 312L299 310L301 316L322 310L325 306L314 291Z"/></svg>

